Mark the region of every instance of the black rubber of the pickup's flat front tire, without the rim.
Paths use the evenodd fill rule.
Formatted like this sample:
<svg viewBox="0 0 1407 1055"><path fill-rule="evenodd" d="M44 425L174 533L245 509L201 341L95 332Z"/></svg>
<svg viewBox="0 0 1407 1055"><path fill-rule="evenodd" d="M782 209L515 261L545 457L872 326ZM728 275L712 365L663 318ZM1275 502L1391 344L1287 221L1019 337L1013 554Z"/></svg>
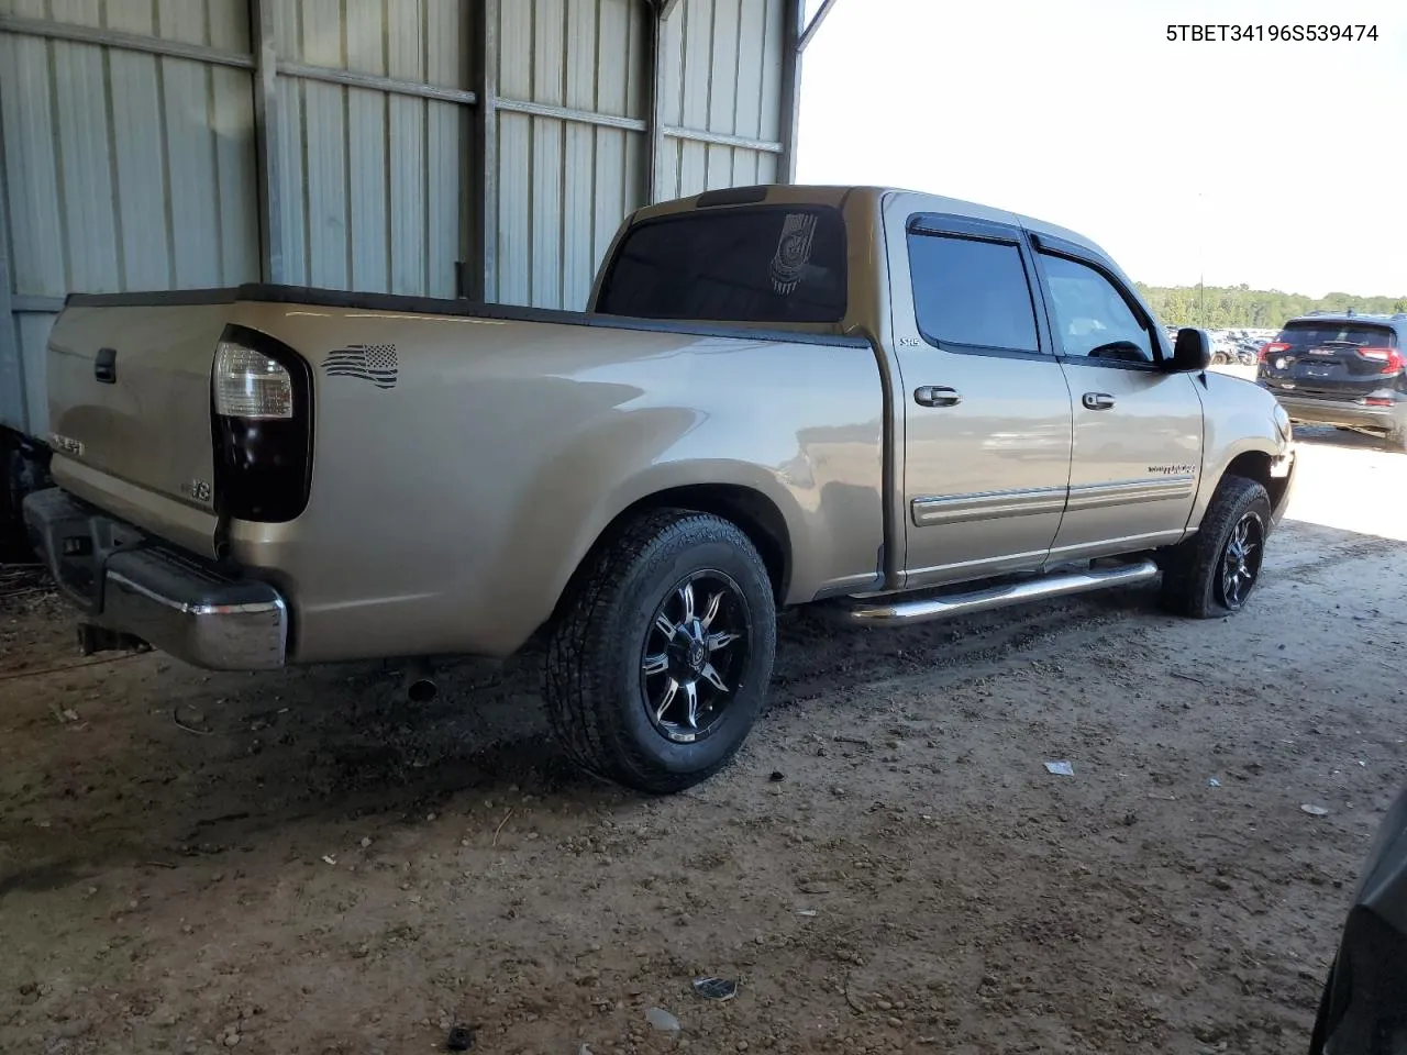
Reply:
<svg viewBox="0 0 1407 1055"><path fill-rule="evenodd" d="M1218 578L1231 533L1248 513L1259 518L1263 553L1265 539L1271 533L1271 497L1255 480L1223 477L1197 533L1172 547L1161 560L1164 608L1189 619L1216 619L1231 613L1233 609L1220 598ZM1251 584L1248 594L1255 585L1256 582ZM1242 606L1244 603L1245 601Z"/></svg>

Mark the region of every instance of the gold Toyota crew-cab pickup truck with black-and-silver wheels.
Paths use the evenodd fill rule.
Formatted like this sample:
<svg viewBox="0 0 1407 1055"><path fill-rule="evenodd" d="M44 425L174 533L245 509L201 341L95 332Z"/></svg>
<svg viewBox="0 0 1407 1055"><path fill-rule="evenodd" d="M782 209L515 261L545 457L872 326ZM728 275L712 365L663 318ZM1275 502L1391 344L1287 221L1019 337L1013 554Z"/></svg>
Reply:
<svg viewBox="0 0 1407 1055"><path fill-rule="evenodd" d="M556 733L725 765L779 608L905 623L1162 575L1240 609L1293 477L1254 384L1079 235L898 190L639 210L585 312L281 286L72 295L56 488L87 627L225 670L546 646Z"/></svg>

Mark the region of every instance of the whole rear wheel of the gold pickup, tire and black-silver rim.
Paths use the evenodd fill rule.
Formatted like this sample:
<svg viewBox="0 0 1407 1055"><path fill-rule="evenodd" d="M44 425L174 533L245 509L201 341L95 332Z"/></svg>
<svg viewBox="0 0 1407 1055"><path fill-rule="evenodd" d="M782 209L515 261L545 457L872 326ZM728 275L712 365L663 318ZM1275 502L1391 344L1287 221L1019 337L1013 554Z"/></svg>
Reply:
<svg viewBox="0 0 1407 1055"><path fill-rule="evenodd" d="M777 651L772 584L733 523L649 511L588 557L547 643L553 731L582 768L653 793L737 753Z"/></svg>

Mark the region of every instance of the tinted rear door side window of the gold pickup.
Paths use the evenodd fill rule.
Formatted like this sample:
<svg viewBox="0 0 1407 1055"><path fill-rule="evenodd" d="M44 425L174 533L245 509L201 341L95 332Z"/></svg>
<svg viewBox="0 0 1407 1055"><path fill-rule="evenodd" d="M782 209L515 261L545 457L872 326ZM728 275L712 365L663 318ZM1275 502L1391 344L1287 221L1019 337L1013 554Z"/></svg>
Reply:
<svg viewBox="0 0 1407 1055"><path fill-rule="evenodd" d="M1040 352L1031 286L1014 245L910 231L909 274L929 343Z"/></svg>

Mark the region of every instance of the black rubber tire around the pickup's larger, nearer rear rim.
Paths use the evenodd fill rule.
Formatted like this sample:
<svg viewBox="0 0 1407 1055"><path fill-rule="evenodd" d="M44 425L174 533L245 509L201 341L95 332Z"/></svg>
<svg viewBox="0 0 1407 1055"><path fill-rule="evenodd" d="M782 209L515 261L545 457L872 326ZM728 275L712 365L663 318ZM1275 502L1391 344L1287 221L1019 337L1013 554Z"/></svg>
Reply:
<svg viewBox="0 0 1407 1055"><path fill-rule="evenodd" d="M681 578L704 570L730 577L746 601L747 663L718 726L696 743L675 743L646 710L642 660L657 606ZM574 577L547 640L543 698L577 765L667 795L732 761L761 710L775 653L772 584L747 535L709 513L654 509L619 526Z"/></svg>

